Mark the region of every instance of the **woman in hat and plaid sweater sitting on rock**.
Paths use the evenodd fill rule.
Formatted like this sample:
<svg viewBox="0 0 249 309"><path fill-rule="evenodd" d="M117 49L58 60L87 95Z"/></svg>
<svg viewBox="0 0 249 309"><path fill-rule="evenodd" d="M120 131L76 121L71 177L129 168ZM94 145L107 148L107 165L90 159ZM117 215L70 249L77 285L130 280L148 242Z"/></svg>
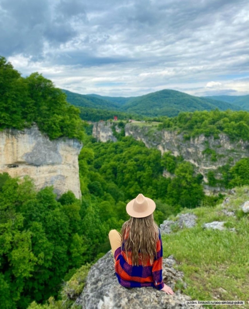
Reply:
<svg viewBox="0 0 249 309"><path fill-rule="evenodd" d="M163 247L160 229L154 221L155 209L153 200L139 194L126 206L131 218L123 224L122 235L117 230L109 232L115 273L124 287L152 286L174 294L162 278Z"/></svg>

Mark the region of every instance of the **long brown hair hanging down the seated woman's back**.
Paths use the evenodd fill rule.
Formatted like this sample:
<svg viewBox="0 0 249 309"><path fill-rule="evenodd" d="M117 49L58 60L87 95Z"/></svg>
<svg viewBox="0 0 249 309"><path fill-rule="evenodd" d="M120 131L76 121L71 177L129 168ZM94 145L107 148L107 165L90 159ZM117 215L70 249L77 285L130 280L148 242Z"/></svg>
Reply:
<svg viewBox="0 0 249 309"><path fill-rule="evenodd" d="M122 225L121 234L121 246L124 242L127 256L129 256L128 251L131 250L132 265L139 266L139 260L142 265L146 265L148 259L150 264L153 263L154 257L157 256L156 243L159 239L158 225L154 221L153 213L143 218L131 217Z"/></svg>

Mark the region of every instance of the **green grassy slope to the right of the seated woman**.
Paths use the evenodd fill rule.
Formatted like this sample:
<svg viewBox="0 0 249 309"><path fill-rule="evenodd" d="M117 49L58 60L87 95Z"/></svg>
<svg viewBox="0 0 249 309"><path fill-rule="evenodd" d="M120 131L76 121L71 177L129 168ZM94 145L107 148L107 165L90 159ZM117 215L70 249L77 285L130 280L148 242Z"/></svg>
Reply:
<svg viewBox="0 0 249 309"><path fill-rule="evenodd" d="M164 257L173 254L188 285L183 292L193 299L245 300L249 307L249 215L239 209L249 200L249 194L244 193L246 188L249 190L249 186L236 187L236 195L230 195L230 201L225 204L227 210L236 211L236 218L223 214L222 204L214 208L185 209L182 213L197 215L197 225L162 235ZM169 219L174 220L174 217ZM213 221L226 221L236 232L202 228L203 223ZM226 292L220 292L219 288ZM235 306L216 308L232 309Z"/></svg>

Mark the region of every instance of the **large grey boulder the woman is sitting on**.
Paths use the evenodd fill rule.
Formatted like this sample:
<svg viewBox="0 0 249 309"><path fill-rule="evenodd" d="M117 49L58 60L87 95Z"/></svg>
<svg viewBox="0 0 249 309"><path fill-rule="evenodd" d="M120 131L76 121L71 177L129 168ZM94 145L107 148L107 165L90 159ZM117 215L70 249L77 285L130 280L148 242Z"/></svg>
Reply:
<svg viewBox="0 0 249 309"><path fill-rule="evenodd" d="M164 283L173 290L176 281L183 282L183 273L173 268L176 261L173 256L163 260ZM169 295L152 287L125 288L118 283L114 272L114 261L111 251L107 252L96 264L94 264L86 279L85 288L77 298L75 304L82 309L177 309L177 308L203 308L201 305L188 304L185 300L191 297L174 291Z"/></svg>

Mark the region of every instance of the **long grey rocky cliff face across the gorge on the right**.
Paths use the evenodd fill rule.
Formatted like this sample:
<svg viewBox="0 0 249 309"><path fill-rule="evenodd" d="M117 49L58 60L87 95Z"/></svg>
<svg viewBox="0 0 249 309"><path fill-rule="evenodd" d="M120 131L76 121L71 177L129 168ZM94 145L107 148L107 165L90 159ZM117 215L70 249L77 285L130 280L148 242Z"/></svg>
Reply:
<svg viewBox="0 0 249 309"><path fill-rule="evenodd" d="M93 136L98 136L98 140L102 142L106 142L108 139L113 140L107 135L105 135L105 139L102 138L102 132L108 128L108 124L105 125L103 122L101 126L96 125L95 128ZM230 138L224 133L219 134L219 139L214 139L213 136L205 137L204 134L201 134L185 141L183 133L177 134L176 131L167 130L158 131L156 127L131 122L125 125L125 135L131 135L136 140L143 141L148 148L157 148L162 154L171 150L175 156L182 155L186 161L196 166L196 171L204 176L206 182L206 174L209 170L215 171L219 166L230 161L235 164L241 158L249 156L249 141L231 142ZM202 153L207 148L214 152L213 158L215 157L215 160L212 159L210 154ZM164 176L169 176L166 171ZM221 175L216 174L216 177L219 178ZM210 189L207 188L207 191L210 191Z"/></svg>

